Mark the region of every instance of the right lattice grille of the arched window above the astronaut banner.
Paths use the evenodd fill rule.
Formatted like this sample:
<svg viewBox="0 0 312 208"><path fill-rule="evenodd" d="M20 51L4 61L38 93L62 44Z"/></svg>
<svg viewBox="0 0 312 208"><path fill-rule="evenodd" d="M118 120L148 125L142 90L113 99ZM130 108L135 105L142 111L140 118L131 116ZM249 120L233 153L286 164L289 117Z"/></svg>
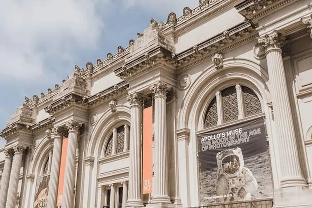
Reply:
<svg viewBox="0 0 312 208"><path fill-rule="evenodd" d="M261 103L256 93L245 86L241 86L241 90L244 96L245 116L261 113Z"/></svg>

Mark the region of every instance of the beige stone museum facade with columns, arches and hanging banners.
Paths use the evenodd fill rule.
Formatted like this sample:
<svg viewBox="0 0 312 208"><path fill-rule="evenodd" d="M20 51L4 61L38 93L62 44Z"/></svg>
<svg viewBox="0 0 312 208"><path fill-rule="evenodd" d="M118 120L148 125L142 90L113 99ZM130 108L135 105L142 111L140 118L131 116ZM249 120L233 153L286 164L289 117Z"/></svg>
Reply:
<svg viewBox="0 0 312 208"><path fill-rule="evenodd" d="M312 207L311 39L310 0L151 19L25 97L0 132L0 208Z"/></svg>

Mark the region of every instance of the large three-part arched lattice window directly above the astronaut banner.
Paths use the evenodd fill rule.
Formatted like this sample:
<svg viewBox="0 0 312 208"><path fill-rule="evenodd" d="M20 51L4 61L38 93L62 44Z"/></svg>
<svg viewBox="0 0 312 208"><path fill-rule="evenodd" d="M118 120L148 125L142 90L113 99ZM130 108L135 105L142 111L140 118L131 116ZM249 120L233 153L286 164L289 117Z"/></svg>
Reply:
<svg viewBox="0 0 312 208"><path fill-rule="evenodd" d="M262 112L256 93L243 85L231 86L216 92L206 110L204 127L242 119Z"/></svg>

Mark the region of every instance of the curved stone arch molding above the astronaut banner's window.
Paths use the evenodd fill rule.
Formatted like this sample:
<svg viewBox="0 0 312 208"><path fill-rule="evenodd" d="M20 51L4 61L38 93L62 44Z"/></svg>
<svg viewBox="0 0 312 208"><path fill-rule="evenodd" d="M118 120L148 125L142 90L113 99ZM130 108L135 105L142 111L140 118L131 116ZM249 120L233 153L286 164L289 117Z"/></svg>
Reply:
<svg viewBox="0 0 312 208"><path fill-rule="evenodd" d="M227 71L227 73L222 74L224 71ZM235 79L249 81L257 89L256 91L261 94L258 97L262 98L263 102L270 102L267 86L269 76L266 68L247 59L225 59L222 69L216 69L214 65L210 65L194 80L178 113L178 129L188 128L191 115L194 115L194 112L191 112L192 107L200 104L201 99L199 100L199 98L207 96L222 82ZM251 89L255 91L255 89Z"/></svg>

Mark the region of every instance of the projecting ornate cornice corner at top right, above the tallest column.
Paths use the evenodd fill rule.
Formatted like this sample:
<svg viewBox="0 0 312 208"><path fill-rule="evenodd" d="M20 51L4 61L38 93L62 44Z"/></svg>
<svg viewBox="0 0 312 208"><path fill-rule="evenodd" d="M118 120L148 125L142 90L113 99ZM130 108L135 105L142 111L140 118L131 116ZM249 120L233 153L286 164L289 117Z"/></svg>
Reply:
<svg viewBox="0 0 312 208"><path fill-rule="evenodd" d="M286 4L299 0L245 0L235 6L236 10L246 19L257 23L259 19L277 11Z"/></svg>

